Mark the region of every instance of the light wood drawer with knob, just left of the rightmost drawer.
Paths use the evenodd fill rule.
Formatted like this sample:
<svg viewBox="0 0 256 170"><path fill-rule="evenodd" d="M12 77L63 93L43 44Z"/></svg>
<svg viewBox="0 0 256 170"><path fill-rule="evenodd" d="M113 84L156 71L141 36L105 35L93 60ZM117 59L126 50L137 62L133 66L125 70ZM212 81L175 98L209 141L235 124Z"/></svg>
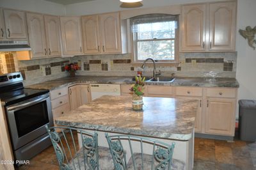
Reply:
<svg viewBox="0 0 256 170"><path fill-rule="evenodd" d="M190 87L178 87L178 88L176 88L176 95L202 97L203 89L202 88L190 88Z"/></svg>

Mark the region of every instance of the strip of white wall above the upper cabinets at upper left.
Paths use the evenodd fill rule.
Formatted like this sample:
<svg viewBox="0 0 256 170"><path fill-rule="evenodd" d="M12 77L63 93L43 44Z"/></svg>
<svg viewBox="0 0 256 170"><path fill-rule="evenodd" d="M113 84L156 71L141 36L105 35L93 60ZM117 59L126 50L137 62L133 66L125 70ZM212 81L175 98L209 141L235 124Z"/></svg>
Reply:
<svg viewBox="0 0 256 170"><path fill-rule="evenodd" d="M0 7L52 15L65 15L64 5L44 0L0 0Z"/></svg>

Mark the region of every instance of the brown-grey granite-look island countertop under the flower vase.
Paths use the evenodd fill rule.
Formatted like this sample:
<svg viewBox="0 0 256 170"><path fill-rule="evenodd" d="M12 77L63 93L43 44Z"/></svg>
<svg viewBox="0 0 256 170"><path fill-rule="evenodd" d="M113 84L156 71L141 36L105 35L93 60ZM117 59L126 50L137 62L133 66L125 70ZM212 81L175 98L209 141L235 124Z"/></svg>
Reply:
<svg viewBox="0 0 256 170"><path fill-rule="evenodd" d="M143 97L143 103L143 111L133 111L131 97L103 96L56 118L56 124L181 141L191 139L198 100Z"/></svg>

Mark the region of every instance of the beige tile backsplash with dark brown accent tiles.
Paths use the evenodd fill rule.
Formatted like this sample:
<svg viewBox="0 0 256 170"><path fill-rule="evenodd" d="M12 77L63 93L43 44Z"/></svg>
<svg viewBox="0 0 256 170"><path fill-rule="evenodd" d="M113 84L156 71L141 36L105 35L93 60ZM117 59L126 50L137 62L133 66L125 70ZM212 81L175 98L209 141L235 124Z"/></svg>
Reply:
<svg viewBox="0 0 256 170"><path fill-rule="evenodd" d="M180 53L179 66L157 66L156 63L156 69L163 76L175 73L177 77L236 77L236 61L236 52ZM81 66L76 75L134 76L141 69L132 65L131 54L17 61L15 53L4 53L0 58L0 74L20 71L25 85L29 85L68 76L64 66L69 63ZM152 72L153 68L146 65L143 75L151 76Z"/></svg>

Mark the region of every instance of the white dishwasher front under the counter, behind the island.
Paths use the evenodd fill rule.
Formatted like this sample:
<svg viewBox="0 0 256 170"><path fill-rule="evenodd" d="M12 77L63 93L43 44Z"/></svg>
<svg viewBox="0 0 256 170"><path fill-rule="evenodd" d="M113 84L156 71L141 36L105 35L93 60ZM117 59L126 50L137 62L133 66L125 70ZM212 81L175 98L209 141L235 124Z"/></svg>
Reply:
<svg viewBox="0 0 256 170"><path fill-rule="evenodd" d="M92 100L103 95L120 96L120 84L90 84Z"/></svg>

